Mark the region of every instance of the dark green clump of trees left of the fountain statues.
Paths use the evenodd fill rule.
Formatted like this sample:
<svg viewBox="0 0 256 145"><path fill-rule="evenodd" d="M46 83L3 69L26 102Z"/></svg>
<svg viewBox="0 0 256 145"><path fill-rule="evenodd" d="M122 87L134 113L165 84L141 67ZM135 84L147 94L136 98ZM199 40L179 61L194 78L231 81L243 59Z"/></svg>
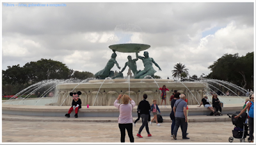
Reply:
<svg viewBox="0 0 256 145"><path fill-rule="evenodd" d="M13 65L2 70L2 91L3 95L15 95L42 80L70 78L84 80L90 77L94 77L93 73L74 71L60 61L41 59L26 63L22 67Z"/></svg>

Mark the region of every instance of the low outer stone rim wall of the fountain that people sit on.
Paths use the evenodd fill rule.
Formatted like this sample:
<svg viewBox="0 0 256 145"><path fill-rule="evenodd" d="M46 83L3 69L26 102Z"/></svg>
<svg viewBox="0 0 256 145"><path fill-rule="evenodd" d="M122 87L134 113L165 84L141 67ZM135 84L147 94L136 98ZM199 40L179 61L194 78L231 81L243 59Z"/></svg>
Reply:
<svg viewBox="0 0 256 145"><path fill-rule="evenodd" d="M136 117L137 107L135 106L132 109L132 116ZM10 104L2 104L2 113L3 114L13 114L13 115L24 115L24 116L63 116L65 118L65 114L67 114L70 106L35 106L35 105L10 105ZM234 114L243 109L243 103L240 104L227 104L222 108L223 114ZM162 116L170 116L170 112L172 111L171 106L167 106L167 108L161 108ZM205 107L198 107L198 105L189 105L189 116L193 115L207 115L210 114L210 110ZM74 116L74 111L70 114L70 116ZM82 106L79 109L78 113L79 117L116 117L119 116L119 110L116 107L112 106L90 106L86 108L86 106Z"/></svg>

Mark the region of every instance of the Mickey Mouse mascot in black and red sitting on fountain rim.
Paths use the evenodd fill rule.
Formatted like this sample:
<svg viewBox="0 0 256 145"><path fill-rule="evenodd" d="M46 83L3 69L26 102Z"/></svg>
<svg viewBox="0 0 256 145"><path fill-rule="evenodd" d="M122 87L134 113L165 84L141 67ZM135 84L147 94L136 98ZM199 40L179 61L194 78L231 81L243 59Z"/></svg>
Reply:
<svg viewBox="0 0 256 145"><path fill-rule="evenodd" d="M77 93L72 93L72 92L69 93L70 96L73 96L73 101L72 101L72 106L70 107L70 109L69 109L69 111L68 111L68 114L65 114L65 116L66 116L67 118L70 117L70 113L71 113L73 110L76 111L75 117L76 117L76 118L78 117L78 116L77 116L78 109L81 109L81 107L82 107L82 106L81 106L81 104L82 104L81 99L79 99L79 95L81 95L81 94L82 94L81 91L77 91Z"/></svg>

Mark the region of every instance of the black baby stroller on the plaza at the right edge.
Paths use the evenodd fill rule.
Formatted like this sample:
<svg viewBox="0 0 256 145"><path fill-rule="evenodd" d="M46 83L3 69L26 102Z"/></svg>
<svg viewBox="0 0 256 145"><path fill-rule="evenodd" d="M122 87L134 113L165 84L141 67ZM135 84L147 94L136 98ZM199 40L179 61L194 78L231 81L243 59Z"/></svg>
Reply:
<svg viewBox="0 0 256 145"><path fill-rule="evenodd" d="M229 137L228 141L233 142L235 139L240 139L240 142L245 142L246 135L248 134L248 124L245 123L247 114L244 112L239 118L235 118L237 114L227 114L229 118L232 118L232 123L235 125L234 130L232 130L233 137ZM248 138L249 141L249 138Z"/></svg>

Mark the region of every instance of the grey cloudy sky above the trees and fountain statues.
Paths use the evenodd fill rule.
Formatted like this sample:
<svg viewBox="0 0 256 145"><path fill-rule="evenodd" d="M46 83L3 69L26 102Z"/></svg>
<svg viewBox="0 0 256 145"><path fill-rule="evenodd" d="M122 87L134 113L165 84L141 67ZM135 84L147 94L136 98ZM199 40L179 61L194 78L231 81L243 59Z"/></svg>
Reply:
<svg viewBox="0 0 256 145"><path fill-rule="evenodd" d="M189 75L200 77L209 74L208 67L223 54L244 56L254 51L254 3L65 4L13 7L2 3L2 70L44 58L96 73L111 57L109 45L145 43L162 69L154 66L155 75L172 79L173 66L182 63ZM128 55L136 57L116 54L121 69ZM143 70L141 60L137 65Z"/></svg>

